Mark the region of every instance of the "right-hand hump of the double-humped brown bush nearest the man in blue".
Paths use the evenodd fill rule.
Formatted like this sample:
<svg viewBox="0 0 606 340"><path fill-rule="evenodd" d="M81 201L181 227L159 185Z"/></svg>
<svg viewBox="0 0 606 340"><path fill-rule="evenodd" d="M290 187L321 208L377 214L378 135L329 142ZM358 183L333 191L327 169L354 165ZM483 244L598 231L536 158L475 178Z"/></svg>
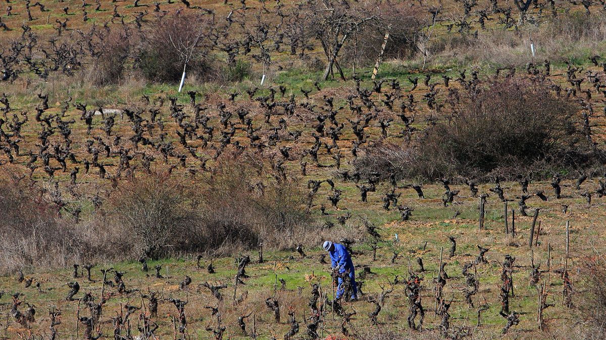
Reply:
<svg viewBox="0 0 606 340"><path fill-rule="evenodd" d="M267 247L284 248L302 241L291 236L310 217L294 181L255 180L255 166L235 159L222 160L217 169L201 194L208 247L250 249L262 240Z"/></svg>

